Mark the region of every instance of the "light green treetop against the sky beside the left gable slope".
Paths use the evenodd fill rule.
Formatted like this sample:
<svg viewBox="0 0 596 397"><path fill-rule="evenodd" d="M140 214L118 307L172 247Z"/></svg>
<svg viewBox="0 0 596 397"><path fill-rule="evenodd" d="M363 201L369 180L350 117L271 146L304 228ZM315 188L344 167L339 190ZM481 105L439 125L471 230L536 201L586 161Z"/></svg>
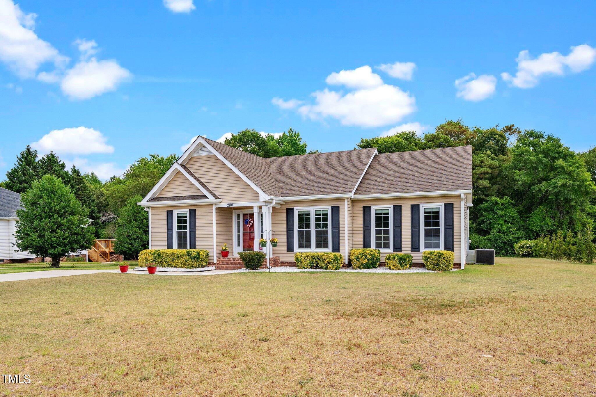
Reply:
<svg viewBox="0 0 596 397"><path fill-rule="evenodd" d="M146 196L177 159L175 154L152 154L132 163L122 177L111 177L104 185L108 210L117 214L132 196Z"/></svg>

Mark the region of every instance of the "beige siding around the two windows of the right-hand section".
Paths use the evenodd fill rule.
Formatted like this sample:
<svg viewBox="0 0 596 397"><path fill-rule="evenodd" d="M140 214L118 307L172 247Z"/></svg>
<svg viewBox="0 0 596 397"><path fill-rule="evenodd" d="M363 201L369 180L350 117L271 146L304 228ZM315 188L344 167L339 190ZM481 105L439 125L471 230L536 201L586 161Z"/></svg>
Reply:
<svg viewBox="0 0 596 397"><path fill-rule="evenodd" d="M353 201L353 248L362 248L362 207L367 205L402 205L402 251L412 254L414 262L422 262L422 252L411 252L411 204L453 203L455 263L461 263L461 201L460 196L366 199ZM371 214L371 223L372 219ZM444 225L442 225L443 227ZM422 224L421 224L422 227ZM392 237L393 238L393 237ZM422 244L422 242L421 242ZM381 252L381 261L387 252Z"/></svg>

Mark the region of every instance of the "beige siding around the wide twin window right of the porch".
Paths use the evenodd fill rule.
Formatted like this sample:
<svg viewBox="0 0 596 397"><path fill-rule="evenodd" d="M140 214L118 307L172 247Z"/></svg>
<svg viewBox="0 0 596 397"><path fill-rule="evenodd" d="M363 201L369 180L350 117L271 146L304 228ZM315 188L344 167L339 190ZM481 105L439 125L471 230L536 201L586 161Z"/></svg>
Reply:
<svg viewBox="0 0 596 397"><path fill-rule="evenodd" d="M286 224L285 224L285 209L286 208L311 208L311 207L331 207L339 206L339 248L340 254L346 256L346 227L345 227L345 199L330 199L330 200L304 200L285 202L280 208L273 208L271 215L271 229L274 232L273 237L279 240L277 247L273 248L274 257L280 257L282 262L293 262L295 252L286 251ZM331 217L331 213L329 214ZM331 222L331 219L330 219ZM331 225L330 225L331 226ZM294 227L296 225L294 224ZM329 235L329 248L331 251L331 227ZM346 260L346 258L344 258Z"/></svg>

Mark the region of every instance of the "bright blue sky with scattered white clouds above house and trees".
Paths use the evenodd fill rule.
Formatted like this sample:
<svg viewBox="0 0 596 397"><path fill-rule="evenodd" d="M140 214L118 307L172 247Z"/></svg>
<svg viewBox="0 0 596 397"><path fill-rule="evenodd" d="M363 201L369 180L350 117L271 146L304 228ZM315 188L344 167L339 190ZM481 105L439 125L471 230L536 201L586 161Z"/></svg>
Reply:
<svg viewBox="0 0 596 397"><path fill-rule="evenodd" d="M596 144L592 1L14 4L0 0L2 176L28 143L108 177L245 128L334 151L461 117Z"/></svg>

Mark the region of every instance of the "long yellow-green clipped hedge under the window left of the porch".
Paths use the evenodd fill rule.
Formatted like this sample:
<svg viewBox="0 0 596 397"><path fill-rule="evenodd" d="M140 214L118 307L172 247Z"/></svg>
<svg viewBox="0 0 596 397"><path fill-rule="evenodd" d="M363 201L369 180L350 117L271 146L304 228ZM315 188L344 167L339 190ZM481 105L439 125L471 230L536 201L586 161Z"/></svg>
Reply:
<svg viewBox="0 0 596 397"><path fill-rule="evenodd" d="M144 249L139 253L139 266L154 263L158 267L195 269L209 264L206 249Z"/></svg>

